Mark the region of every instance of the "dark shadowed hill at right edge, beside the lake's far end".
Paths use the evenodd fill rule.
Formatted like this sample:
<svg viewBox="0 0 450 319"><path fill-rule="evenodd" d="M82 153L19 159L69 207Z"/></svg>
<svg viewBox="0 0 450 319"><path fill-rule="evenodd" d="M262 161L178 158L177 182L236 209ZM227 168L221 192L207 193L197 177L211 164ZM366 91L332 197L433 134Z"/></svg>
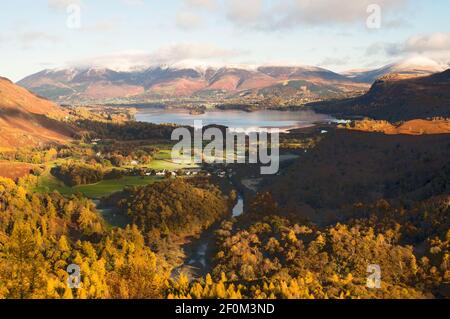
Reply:
<svg viewBox="0 0 450 319"><path fill-rule="evenodd" d="M366 116L391 122L450 117L450 70L407 79L401 74L386 75L363 96L310 106L337 116Z"/></svg>

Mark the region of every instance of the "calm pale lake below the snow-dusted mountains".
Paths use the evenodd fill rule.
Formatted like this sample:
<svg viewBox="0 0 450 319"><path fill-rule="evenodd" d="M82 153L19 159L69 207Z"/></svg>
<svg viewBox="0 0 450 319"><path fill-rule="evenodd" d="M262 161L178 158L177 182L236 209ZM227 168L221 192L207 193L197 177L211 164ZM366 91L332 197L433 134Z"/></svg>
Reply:
<svg viewBox="0 0 450 319"><path fill-rule="evenodd" d="M203 121L203 126L222 125L244 130L258 128L301 128L313 126L315 123L334 122L329 115L313 111L208 111L201 115L189 114L186 110L142 109L136 120L154 124L177 124L194 126L194 120Z"/></svg>

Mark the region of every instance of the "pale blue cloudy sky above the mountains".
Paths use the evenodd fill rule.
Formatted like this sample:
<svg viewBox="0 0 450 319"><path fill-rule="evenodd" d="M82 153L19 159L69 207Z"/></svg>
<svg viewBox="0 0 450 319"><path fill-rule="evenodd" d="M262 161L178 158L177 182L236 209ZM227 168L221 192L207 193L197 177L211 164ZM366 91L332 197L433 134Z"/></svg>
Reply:
<svg viewBox="0 0 450 319"><path fill-rule="evenodd" d="M15 0L0 5L0 76L43 69L450 62L448 0Z"/></svg>

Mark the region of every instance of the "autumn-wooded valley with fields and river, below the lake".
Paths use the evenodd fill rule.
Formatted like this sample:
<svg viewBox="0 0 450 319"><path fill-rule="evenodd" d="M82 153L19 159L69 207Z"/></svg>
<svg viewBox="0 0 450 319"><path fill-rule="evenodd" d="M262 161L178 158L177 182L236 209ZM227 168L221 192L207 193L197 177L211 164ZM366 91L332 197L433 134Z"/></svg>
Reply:
<svg viewBox="0 0 450 319"><path fill-rule="evenodd" d="M141 136L15 154L41 163L0 162L21 177L0 178L0 298L449 298L450 134L427 125L292 130L273 176L179 166Z"/></svg>

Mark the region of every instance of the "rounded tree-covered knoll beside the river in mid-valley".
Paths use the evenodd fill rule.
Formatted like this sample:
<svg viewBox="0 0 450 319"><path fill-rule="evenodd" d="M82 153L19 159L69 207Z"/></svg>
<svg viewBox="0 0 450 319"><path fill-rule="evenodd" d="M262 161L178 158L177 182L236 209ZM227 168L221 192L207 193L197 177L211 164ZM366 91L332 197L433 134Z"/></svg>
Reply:
<svg viewBox="0 0 450 319"><path fill-rule="evenodd" d="M195 234L229 212L229 203L219 189L181 179L127 189L109 200L116 201L122 213L146 233L167 228L172 235Z"/></svg>

